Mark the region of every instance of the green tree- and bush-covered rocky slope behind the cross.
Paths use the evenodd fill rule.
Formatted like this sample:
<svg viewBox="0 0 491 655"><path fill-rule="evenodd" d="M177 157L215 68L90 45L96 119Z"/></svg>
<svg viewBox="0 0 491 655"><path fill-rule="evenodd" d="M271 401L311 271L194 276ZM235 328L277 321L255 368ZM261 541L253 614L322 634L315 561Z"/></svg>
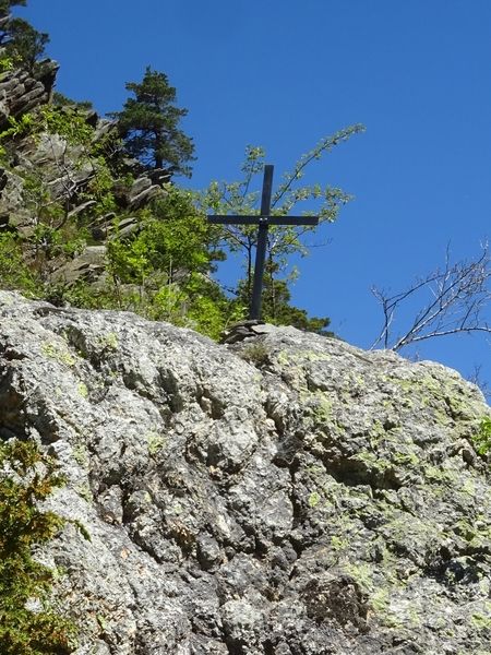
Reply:
<svg viewBox="0 0 491 655"><path fill-rule="evenodd" d="M122 110L100 119L89 102L52 88L43 59L48 36L0 4L0 286L56 305L131 310L192 327L213 338L248 315L254 226L212 226L207 213L258 214L265 153L248 147L243 177L212 182L203 192L177 187L191 175L194 145L181 129L188 110L177 105L168 78L147 68L127 84ZM22 29L21 29L22 28ZM33 106L9 104L9 88L27 80ZM29 95L31 94L31 95ZM340 189L304 186L306 168L362 130L352 126L323 139L286 174L273 196L275 215L308 202L332 222L349 200ZM311 229L311 228L307 228ZM330 319L291 305L297 272L290 255L307 254L304 227L272 227L267 245L263 318L275 324L331 334ZM218 262L239 253L243 279L224 288Z"/></svg>

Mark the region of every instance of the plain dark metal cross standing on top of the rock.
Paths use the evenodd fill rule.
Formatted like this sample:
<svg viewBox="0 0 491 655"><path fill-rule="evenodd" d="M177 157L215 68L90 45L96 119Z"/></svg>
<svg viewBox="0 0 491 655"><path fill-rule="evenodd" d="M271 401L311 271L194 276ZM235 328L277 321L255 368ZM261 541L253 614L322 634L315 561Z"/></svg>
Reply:
<svg viewBox="0 0 491 655"><path fill-rule="evenodd" d="M260 320L261 296L263 290L264 265L266 262L267 228L270 225L318 225L319 216L272 216L271 195L273 189L273 166L264 166L263 193L261 199L261 214L259 216L207 216L209 223L226 225L258 225L258 246L255 249L254 283L249 318Z"/></svg>

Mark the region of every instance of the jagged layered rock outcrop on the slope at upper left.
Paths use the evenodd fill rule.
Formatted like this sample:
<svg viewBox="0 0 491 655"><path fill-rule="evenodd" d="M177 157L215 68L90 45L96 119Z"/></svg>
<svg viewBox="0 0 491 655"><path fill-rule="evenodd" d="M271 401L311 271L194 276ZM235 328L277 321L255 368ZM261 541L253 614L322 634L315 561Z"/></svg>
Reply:
<svg viewBox="0 0 491 655"><path fill-rule="evenodd" d="M58 231L61 241L84 227L92 245L50 255L40 266L45 282L70 287L104 275L108 239L115 231L120 237L137 231L137 212L166 195L171 174L145 170L124 156L115 121L76 104L52 105L58 68L45 60L36 76L0 71L0 237L21 237L32 263L39 243L49 241L45 236L29 242L40 227ZM40 114L47 109L52 124ZM110 209L101 203L100 180L111 195Z"/></svg>

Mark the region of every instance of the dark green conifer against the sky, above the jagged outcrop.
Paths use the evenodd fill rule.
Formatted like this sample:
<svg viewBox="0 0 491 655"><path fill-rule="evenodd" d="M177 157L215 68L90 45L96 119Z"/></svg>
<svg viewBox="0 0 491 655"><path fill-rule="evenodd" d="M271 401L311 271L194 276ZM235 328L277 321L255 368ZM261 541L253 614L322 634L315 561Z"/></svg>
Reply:
<svg viewBox="0 0 491 655"><path fill-rule="evenodd" d="M176 88L167 75L147 67L142 82L129 82L127 90L134 97L111 116L118 120L128 153L147 167L190 176L188 162L194 158L194 145L178 127L188 110L176 107Z"/></svg>

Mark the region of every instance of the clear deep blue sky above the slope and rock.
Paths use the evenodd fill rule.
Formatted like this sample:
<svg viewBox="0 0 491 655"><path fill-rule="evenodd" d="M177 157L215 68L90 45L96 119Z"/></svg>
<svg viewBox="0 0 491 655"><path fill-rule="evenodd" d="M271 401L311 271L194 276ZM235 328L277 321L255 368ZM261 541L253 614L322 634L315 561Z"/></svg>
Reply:
<svg viewBox="0 0 491 655"><path fill-rule="evenodd" d="M28 0L19 13L49 33L58 91L100 114L121 109L146 66L165 72L189 109L193 188L237 179L247 144L279 176L322 136L363 123L308 180L356 200L294 287L355 345L381 325L372 285L402 290L448 243L455 259L476 257L490 236L490 0ZM489 342L418 354L466 377L482 365L491 381Z"/></svg>

